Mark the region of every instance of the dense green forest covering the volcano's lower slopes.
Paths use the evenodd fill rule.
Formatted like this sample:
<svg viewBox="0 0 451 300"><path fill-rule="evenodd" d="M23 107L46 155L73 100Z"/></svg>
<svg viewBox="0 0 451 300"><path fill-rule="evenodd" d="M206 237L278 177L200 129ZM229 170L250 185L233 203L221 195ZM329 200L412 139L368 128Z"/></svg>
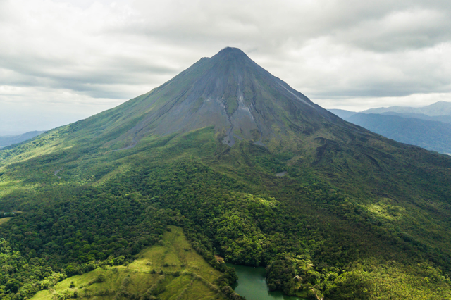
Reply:
<svg viewBox="0 0 451 300"><path fill-rule="evenodd" d="M215 254L266 267L270 289L304 299L451 299L451 161L439 154L344 172L328 142L313 163L230 148L212 127L111 151L64 139L76 126L0 151L0 210L20 211L0 225L1 299L130 264L169 226L222 273L215 285L230 299L236 275Z"/></svg>

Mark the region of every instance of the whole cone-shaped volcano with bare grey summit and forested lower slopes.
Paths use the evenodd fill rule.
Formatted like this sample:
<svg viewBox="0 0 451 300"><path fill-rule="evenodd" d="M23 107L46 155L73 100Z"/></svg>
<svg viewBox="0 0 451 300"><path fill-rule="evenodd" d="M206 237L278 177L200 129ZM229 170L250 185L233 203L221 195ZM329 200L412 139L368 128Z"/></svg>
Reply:
<svg viewBox="0 0 451 300"><path fill-rule="evenodd" d="M451 299L451 158L341 120L239 49L0 158L0 210L22 211L0 225L2 299L131 262L170 225L231 299L213 254L305 299Z"/></svg>

